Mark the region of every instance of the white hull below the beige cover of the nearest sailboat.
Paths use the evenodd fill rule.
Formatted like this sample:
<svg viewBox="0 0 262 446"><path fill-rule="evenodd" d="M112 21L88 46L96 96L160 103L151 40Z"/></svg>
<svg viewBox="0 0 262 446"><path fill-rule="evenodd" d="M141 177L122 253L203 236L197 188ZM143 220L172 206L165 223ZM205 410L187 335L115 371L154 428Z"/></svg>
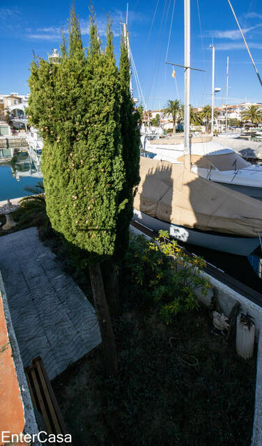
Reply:
<svg viewBox="0 0 262 446"><path fill-rule="evenodd" d="M202 246L216 251L229 252L238 256L248 256L259 246L259 238L229 236L221 233L208 233L195 229L185 228L176 224L163 222L150 215L134 209L134 220L144 224L153 231L168 231L171 237L183 243Z"/></svg>

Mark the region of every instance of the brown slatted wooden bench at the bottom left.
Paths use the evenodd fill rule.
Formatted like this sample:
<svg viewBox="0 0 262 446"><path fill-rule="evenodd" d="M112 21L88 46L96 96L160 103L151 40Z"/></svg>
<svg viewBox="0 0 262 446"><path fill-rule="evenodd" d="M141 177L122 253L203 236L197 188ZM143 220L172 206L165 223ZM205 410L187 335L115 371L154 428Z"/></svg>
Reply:
<svg viewBox="0 0 262 446"><path fill-rule="evenodd" d="M43 360L40 356L36 357L33 360L33 365L26 367L24 371L38 424L41 424L42 420L43 426L38 426L39 429L45 430L48 435L50 433L55 435L59 433L65 436L68 433L66 424L63 421L63 416L47 376ZM45 444L48 444L48 442ZM54 445L54 443L52 444ZM59 445L65 445L65 443L59 443Z"/></svg>

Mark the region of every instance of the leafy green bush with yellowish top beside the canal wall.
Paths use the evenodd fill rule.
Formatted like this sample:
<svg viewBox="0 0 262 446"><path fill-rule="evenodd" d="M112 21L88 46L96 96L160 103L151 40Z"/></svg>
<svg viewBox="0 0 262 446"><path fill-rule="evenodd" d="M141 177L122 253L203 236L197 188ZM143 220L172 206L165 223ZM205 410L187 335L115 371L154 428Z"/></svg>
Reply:
<svg viewBox="0 0 262 446"><path fill-rule="evenodd" d="M137 305L157 304L164 323L169 324L176 314L198 307L196 289L205 295L210 284L199 275L206 266L201 257L185 254L167 232L147 241L144 236L132 238L125 257L126 272L132 277Z"/></svg>

